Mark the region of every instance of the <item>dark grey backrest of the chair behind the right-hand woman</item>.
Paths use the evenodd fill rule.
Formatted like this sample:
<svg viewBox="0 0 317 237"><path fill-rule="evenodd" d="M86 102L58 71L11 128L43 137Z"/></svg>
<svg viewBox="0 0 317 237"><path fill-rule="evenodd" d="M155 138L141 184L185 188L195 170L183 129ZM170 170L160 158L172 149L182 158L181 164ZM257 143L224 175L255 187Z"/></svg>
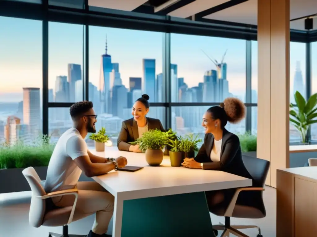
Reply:
<svg viewBox="0 0 317 237"><path fill-rule="evenodd" d="M242 155L245 168L253 179L253 187L263 187L270 168L270 161L249 155Z"/></svg>

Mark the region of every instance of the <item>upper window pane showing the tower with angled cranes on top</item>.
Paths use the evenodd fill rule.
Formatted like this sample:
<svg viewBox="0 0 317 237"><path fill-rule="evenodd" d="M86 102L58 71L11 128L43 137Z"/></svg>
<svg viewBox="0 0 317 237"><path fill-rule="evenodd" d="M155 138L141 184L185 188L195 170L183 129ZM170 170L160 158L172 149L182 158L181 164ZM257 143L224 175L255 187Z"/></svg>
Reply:
<svg viewBox="0 0 317 237"><path fill-rule="evenodd" d="M245 101L245 40L171 34L171 102Z"/></svg>

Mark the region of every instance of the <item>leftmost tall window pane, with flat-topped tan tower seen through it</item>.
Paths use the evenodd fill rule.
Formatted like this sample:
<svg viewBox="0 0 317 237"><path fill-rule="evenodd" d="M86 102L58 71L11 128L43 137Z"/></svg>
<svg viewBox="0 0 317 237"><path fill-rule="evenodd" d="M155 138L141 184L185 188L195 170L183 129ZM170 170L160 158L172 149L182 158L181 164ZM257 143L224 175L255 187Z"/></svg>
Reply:
<svg viewBox="0 0 317 237"><path fill-rule="evenodd" d="M0 37L0 143L32 143L42 133L42 21L0 16L0 32L5 36Z"/></svg>

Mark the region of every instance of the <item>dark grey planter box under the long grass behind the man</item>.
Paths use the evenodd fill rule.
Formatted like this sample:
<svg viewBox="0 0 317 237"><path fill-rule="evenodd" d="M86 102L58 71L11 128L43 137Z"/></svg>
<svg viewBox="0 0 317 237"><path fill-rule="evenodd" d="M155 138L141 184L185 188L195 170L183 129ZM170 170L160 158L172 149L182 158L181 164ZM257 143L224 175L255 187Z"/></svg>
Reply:
<svg viewBox="0 0 317 237"><path fill-rule="evenodd" d="M22 174L24 168L0 170L0 193L31 191L28 181ZM34 167L41 180L46 179L47 167ZM92 181L81 174L79 181Z"/></svg>

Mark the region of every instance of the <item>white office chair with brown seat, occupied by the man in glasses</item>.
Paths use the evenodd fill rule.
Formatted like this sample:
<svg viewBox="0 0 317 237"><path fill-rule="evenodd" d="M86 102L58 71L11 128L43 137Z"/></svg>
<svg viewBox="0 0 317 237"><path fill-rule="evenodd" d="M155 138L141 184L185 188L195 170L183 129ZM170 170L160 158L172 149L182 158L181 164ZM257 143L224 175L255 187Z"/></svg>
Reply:
<svg viewBox="0 0 317 237"><path fill-rule="evenodd" d="M28 181L31 191L31 205L29 211L29 223L33 227L40 226L63 226L63 234L49 233L49 237L86 237L86 235L68 234L68 225L73 221L76 207L78 189L68 189L46 193L41 185L41 179L33 167L25 168L22 171ZM63 195L75 195L72 207L55 207L51 197Z"/></svg>

